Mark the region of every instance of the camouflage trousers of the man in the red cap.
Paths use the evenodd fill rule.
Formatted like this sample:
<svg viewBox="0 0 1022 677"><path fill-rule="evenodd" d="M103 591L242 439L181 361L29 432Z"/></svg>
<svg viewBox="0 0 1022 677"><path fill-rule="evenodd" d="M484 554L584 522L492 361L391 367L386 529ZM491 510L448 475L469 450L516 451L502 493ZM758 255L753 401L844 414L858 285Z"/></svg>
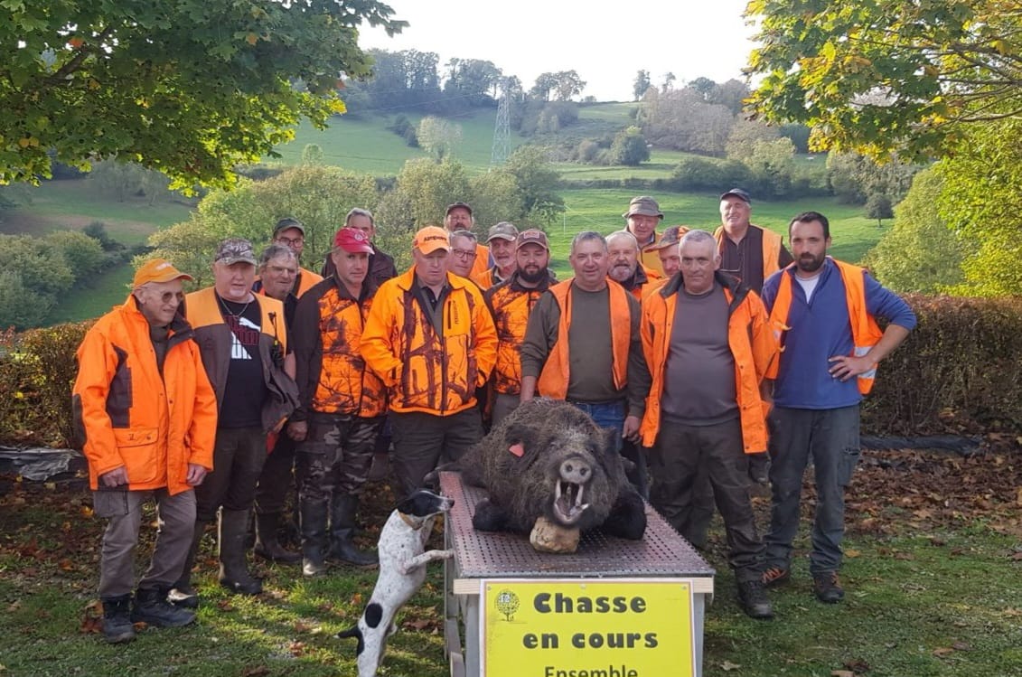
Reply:
<svg viewBox="0 0 1022 677"><path fill-rule="evenodd" d="M369 477L383 416L309 415L309 434L298 443L295 478L303 502L334 494L358 496Z"/></svg>

